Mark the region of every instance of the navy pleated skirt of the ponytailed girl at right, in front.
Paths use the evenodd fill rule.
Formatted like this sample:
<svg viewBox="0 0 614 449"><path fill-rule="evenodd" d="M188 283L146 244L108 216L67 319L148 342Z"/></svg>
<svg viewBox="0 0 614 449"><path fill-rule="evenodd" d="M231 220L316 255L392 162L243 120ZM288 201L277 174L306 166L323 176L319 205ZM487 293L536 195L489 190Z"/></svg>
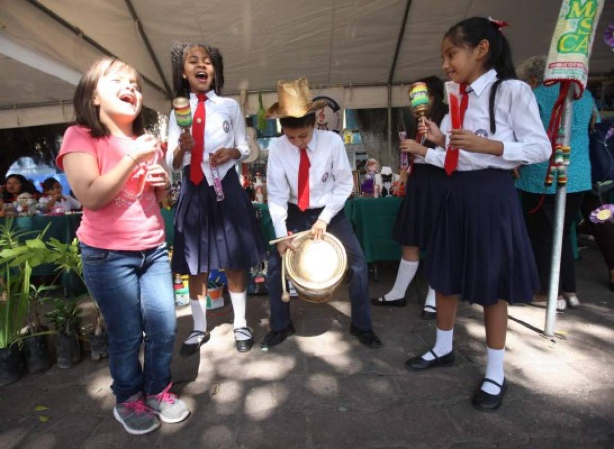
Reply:
<svg viewBox="0 0 614 449"><path fill-rule="evenodd" d="M436 291L481 305L530 302L540 288L510 172L454 172L433 226L427 277Z"/></svg>

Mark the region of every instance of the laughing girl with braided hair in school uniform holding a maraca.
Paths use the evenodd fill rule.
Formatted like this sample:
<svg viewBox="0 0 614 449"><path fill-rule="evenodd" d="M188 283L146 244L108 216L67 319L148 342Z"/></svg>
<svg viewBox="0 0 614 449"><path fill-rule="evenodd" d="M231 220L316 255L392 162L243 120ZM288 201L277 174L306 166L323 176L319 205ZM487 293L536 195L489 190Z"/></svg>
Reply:
<svg viewBox="0 0 614 449"><path fill-rule="evenodd" d="M208 274L223 269L233 305L236 348L247 352L254 339L245 318L246 270L265 258L254 207L239 183L236 165L249 156L239 104L222 97L223 59L202 44L176 44L171 50L177 96L190 101L191 131L182 132L174 112L169 120L169 166L183 170L175 212L173 271L189 275L193 331L181 347L190 355L209 340L206 324ZM223 199L212 168L219 172Z"/></svg>

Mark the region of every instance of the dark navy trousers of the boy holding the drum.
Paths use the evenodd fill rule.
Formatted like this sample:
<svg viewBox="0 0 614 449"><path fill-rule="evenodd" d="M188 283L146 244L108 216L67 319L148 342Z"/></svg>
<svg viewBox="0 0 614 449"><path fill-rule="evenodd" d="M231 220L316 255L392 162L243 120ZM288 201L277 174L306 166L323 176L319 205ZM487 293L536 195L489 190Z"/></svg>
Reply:
<svg viewBox="0 0 614 449"><path fill-rule="evenodd" d="M288 204L286 227L294 234L310 229L322 212L321 209L306 209L301 212L294 204ZM351 302L352 323L361 331L371 330L371 303L369 300L369 271L365 255L362 253L354 229L346 218L343 209L330 220L326 228L343 244L348 254L349 299ZM271 248L266 267L266 285L271 302L271 331L279 332L290 324L290 303L281 301L281 258L277 248Z"/></svg>

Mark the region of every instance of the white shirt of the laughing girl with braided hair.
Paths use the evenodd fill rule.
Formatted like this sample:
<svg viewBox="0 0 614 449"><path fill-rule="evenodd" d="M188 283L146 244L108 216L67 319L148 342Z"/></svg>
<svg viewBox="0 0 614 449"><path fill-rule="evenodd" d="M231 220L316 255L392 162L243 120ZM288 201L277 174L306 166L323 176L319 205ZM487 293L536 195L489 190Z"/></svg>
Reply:
<svg viewBox="0 0 614 449"><path fill-rule="evenodd" d="M247 159L249 156L249 140L245 131L245 119L241 114L238 102L232 98L217 96L214 91L207 94L204 102L205 121L204 121L204 151L203 151L203 174L209 185L213 185L211 167L209 167L209 153L215 153L220 148L236 148L241 153L239 159L233 159L220 165L220 177L224 177L231 167L236 163ZM192 116L198 106L198 98L190 93L190 107ZM175 112L171 111L168 125L168 152L166 153L166 163L173 167L174 150L179 145L179 136L183 130L177 126ZM192 154L185 152L184 161L181 167L190 164Z"/></svg>

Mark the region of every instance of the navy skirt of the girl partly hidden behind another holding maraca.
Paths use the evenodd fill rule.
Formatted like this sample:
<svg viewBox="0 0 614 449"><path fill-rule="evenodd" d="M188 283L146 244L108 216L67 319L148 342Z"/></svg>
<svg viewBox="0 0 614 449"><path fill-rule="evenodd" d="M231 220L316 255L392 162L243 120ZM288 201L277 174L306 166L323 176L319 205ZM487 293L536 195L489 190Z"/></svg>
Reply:
<svg viewBox="0 0 614 449"><path fill-rule="evenodd" d="M414 164L392 230L393 239L408 247L427 247L448 182L449 177L443 169L430 164Z"/></svg>

